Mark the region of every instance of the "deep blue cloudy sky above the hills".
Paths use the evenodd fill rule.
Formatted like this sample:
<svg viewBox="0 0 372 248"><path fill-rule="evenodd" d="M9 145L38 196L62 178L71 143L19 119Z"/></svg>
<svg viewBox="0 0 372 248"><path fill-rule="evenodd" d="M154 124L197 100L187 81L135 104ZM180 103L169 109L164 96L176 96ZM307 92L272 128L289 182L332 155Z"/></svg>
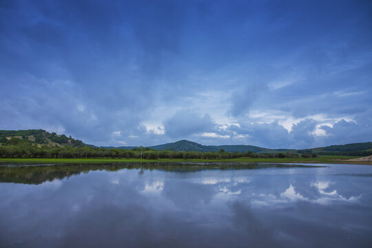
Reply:
<svg viewBox="0 0 372 248"><path fill-rule="evenodd" d="M93 145L372 141L372 1L0 1L0 129Z"/></svg>

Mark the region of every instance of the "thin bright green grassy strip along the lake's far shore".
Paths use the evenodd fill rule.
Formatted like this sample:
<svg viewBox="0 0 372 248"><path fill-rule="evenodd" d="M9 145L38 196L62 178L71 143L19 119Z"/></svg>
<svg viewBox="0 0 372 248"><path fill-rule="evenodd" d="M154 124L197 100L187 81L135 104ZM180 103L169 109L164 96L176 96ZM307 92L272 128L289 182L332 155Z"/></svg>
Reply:
<svg viewBox="0 0 372 248"><path fill-rule="evenodd" d="M319 156L318 158L233 158L233 159L136 159L136 158L0 158L0 163L158 163L158 162L188 162L188 163L355 163L347 159L353 156ZM358 162L371 165L369 162Z"/></svg>

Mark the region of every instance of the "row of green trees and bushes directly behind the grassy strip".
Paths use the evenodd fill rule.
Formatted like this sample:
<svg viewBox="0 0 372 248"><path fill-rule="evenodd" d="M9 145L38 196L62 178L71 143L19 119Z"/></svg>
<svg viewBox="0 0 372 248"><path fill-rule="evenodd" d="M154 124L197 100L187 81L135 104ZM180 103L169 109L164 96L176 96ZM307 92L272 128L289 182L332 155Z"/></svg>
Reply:
<svg viewBox="0 0 372 248"><path fill-rule="evenodd" d="M256 154L254 152L178 152L159 151L148 147L134 149L105 149L99 147L71 145L53 146L30 143L21 138L0 141L0 158L182 158L182 159L229 159L229 158L298 158L298 154L276 153ZM314 157L316 154L302 154L302 157Z"/></svg>

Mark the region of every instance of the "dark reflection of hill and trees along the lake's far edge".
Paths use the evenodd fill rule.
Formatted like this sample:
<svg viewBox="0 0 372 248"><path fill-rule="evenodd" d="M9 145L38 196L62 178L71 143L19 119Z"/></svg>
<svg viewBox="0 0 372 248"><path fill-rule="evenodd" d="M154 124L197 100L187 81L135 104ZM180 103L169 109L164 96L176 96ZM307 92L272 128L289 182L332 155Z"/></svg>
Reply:
<svg viewBox="0 0 372 248"><path fill-rule="evenodd" d="M116 172L119 169L158 169L167 172L197 172L203 169L264 169L268 167L314 167L309 165L282 165L263 163L123 163L81 165L12 165L0 166L0 183L41 184L54 179L62 180L73 175L96 170Z"/></svg>

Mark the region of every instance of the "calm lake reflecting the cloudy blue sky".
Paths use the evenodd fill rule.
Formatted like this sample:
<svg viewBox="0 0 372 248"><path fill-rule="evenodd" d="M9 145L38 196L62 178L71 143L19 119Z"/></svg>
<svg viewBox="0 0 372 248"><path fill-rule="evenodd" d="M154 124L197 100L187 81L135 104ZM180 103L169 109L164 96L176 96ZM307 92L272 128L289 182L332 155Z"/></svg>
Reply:
<svg viewBox="0 0 372 248"><path fill-rule="evenodd" d="M369 165L0 166L0 247L372 247Z"/></svg>

